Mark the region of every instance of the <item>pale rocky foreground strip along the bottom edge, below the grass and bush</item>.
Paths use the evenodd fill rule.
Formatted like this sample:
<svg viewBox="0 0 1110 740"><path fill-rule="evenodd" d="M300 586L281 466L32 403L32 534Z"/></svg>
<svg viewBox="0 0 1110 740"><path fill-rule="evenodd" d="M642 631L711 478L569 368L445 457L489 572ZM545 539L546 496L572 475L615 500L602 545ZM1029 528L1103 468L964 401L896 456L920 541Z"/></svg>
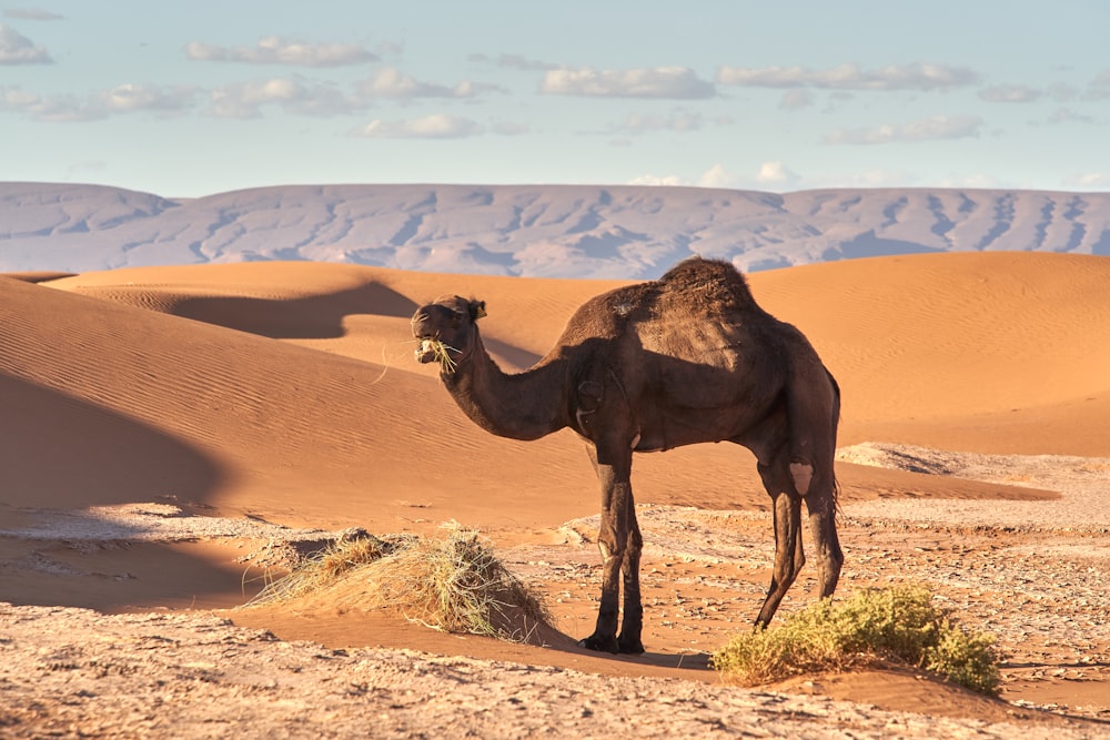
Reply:
<svg viewBox="0 0 1110 740"><path fill-rule="evenodd" d="M199 615L0 610L0 730L42 737L1090 738L702 681L330 650ZM80 636L74 638L74 636ZM1017 720L1016 720L1017 721Z"/></svg>

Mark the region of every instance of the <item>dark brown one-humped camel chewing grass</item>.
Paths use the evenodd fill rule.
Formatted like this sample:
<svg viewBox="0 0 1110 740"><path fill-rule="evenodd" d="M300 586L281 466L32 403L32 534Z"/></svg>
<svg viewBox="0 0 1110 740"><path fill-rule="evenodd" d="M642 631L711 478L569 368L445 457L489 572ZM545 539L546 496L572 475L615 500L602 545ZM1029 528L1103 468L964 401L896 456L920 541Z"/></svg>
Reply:
<svg viewBox="0 0 1110 740"><path fill-rule="evenodd" d="M571 427L587 440L602 485L604 566L597 627L581 646L644 651L634 452L734 442L755 454L775 518L775 569L757 626L770 621L805 565L803 500L820 595L833 594L844 562L833 475L840 392L801 332L756 305L735 267L692 259L658 281L591 298L519 374L502 372L486 353L476 324L484 315L484 302L458 296L418 308L416 359L440 362L458 407L487 432L537 439Z"/></svg>

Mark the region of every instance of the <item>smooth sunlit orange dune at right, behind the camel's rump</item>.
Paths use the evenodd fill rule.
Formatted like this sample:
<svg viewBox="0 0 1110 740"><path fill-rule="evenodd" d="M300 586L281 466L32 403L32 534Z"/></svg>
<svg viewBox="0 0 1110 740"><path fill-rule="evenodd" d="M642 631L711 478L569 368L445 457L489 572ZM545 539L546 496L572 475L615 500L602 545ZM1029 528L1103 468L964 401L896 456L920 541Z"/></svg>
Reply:
<svg viewBox="0 0 1110 740"><path fill-rule="evenodd" d="M1108 278L1102 257L976 253L806 266L751 282L841 379L841 444L1104 455Z"/></svg>

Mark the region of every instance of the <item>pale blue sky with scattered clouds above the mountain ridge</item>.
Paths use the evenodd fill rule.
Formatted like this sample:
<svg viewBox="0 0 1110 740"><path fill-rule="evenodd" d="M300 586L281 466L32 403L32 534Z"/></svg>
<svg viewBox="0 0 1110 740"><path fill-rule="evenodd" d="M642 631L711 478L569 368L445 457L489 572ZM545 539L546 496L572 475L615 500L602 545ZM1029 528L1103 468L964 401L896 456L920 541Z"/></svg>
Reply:
<svg viewBox="0 0 1110 740"><path fill-rule="evenodd" d="M1107 29L1106 0L0 0L0 181L1106 191Z"/></svg>

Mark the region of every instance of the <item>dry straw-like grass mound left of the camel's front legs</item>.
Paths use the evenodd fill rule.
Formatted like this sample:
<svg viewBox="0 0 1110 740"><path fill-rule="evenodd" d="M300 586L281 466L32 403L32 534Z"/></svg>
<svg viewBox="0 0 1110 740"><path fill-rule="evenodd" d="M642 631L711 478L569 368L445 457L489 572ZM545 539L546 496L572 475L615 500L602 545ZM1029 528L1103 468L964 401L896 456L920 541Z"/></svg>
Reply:
<svg viewBox="0 0 1110 740"><path fill-rule="evenodd" d="M335 540L270 582L251 605L287 601L357 579L377 606L434 629L524 641L551 615L494 556L488 540L452 523L422 538L365 533Z"/></svg>

